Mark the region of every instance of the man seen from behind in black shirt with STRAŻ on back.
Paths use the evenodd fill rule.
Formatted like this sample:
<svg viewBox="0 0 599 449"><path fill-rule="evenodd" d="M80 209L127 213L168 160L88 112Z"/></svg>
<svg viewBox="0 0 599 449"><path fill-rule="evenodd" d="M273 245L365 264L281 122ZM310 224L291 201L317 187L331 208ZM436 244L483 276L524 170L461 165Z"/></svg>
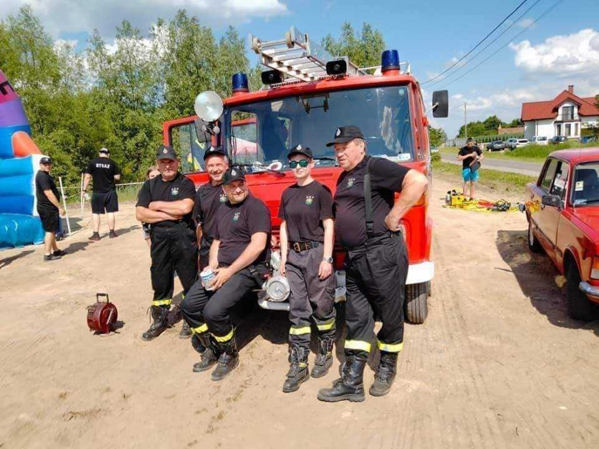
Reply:
<svg viewBox="0 0 599 449"><path fill-rule="evenodd" d="M121 179L121 171L115 161L110 159L110 151L100 149L100 157L92 159L85 169L83 192L87 190L89 181L93 179L93 194L91 195L91 218L93 234L89 240L100 240L100 215L108 215L109 237L115 238L115 212L119 211L119 200L115 181Z"/></svg>

